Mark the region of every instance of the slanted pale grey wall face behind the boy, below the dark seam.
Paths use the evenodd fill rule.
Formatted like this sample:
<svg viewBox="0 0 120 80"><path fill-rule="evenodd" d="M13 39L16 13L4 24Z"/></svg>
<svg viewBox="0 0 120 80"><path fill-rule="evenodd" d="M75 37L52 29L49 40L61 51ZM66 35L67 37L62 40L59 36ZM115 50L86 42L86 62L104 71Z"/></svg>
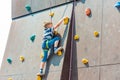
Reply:
<svg viewBox="0 0 120 80"><path fill-rule="evenodd" d="M57 23L63 16L71 17L72 4L59 6L52 10L55 14L52 18L53 24ZM43 35L43 22L50 21L50 10L40 12L34 15L29 15L23 18L13 20L9 39L0 71L0 80L36 80L36 75L39 72L40 53ZM61 13L61 14L59 14ZM58 28L58 32L62 36L61 45L66 47L69 24L62 24ZM30 37L35 35L35 40L32 42ZM24 57L24 62L19 60L19 57ZM7 58L12 60L12 63L7 62ZM46 76L43 80L60 80L64 53L62 56L52 55L47 63ZM52 76L52 78L51 78Z"/></svg>

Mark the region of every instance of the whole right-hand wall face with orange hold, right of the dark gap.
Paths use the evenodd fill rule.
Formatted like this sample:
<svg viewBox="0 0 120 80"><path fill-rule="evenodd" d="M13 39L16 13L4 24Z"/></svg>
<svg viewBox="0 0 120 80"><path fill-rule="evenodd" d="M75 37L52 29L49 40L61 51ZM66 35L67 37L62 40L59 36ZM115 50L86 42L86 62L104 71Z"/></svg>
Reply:
<svg viewBox="0 0 120 80"><path fill-rule="evenodd" d="M72 80L120 80L120 10L114 7L117 1L76 2L75 34L80 38L74 46ZM87 8L91 9L89 16ZM84 58L88 60L86 65L82 63Z"/></svg>

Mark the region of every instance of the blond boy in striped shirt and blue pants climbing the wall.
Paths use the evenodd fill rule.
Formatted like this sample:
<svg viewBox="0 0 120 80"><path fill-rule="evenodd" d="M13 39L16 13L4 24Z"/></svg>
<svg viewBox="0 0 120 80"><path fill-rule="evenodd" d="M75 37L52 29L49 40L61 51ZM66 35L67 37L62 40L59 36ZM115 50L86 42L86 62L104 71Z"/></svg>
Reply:
<svg viewBox="0 0 120 80"><path fill-rule="evenodd" d="M43 69L47 61L49 49L52 46L54 46L54 54L57 54L59 50L62 50L62 47L58 47L60 37L54 36L54 30L62 24L63 20L64 18L61 19L55 26L53 26L52 22L46 22L44 24L45 29L44 29L44 36L43 36L43 42L42 42L44 57L40 64L40 75L43 75Z"/></svg>

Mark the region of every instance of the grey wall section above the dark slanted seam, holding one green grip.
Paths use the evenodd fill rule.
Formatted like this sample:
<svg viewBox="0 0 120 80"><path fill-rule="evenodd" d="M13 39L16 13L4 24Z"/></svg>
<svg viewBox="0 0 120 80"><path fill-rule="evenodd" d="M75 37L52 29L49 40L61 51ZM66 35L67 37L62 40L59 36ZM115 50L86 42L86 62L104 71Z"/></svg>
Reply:
<svg viewBox="0 0 120 80"><path fill-rule="evenodd" d="M57 6L72 0L12 0L12 18L29 14L25 5L31 6L32 12Z"/></svg>

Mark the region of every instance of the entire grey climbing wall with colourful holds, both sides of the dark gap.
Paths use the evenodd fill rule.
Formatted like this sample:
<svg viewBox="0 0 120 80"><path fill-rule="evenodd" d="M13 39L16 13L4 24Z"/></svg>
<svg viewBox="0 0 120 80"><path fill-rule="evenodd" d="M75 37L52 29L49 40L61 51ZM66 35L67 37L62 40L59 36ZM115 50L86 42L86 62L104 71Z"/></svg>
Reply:
<svg viewBox="0 0 120 80"><path fill-rule="evenodd" d="M62 25L58 32L62 35L64 53L50 56L46 76L43 80L120 80L120 8L115 7L120 0L77 0L75 2L75 26L72 49L72 69L65 56L69 38L69 25ZM42 24L50 21L49 12L55 24L63 16L71 17L72 0L12 0L12 27L9 34L0 80L36 80L39 70ZM30 11L25 6L29 4ZM117 4L118 5L118 4ZM119 3L120 5L120 3ZM50 8L53 7L53 8ZM37 11L37 12L36 12ZM89 14L89 12L91 12ZM29 14L29 15L28 15ZM70 33L70 32L69 32ZM35 35L35 41L29 39ZM79 38L79 39L77 39ZM68 41L68 42L67 42ZM24 62L19 60L24 56ZM8 58L8 60L7 60ZM12 61L12 64L9 64ZM69 61L69 60L68 60ZM8 63L9 62L9 63ZM64 68L64 66L67 66ZM61 73L69 69L69 73ZM65 71L63 71L65 72ZM61 78L62 74L66 77Z"/></svg>

